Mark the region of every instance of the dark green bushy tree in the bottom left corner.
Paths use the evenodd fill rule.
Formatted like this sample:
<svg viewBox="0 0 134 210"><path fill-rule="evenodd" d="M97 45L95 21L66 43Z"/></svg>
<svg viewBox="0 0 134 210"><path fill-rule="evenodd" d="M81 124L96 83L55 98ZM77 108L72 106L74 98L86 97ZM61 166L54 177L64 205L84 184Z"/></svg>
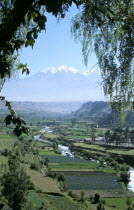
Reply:
<svg viewBox="0 0 134 210"><path fill-rule="evenodd" d="M13 210L20 210L26 201L26 194L33 188L30 178L24 168L19 163L19 157L10 155L8 166L9 171L5 171L2 183L2 195L8 200L8 204Z"/></svg>

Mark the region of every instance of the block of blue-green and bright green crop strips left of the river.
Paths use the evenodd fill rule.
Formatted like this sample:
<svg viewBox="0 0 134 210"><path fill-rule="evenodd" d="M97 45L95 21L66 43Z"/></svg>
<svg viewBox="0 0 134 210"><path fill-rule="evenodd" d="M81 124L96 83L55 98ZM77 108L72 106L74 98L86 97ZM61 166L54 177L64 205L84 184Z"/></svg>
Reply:
<svg viewBox="0 0 134 210"><path fill-rule="evenodd" d="M97 162L67 156L43 156L46 157L52 171L64 173L67 189L122 189L115 171L108 166L100 168Z"/></svg>

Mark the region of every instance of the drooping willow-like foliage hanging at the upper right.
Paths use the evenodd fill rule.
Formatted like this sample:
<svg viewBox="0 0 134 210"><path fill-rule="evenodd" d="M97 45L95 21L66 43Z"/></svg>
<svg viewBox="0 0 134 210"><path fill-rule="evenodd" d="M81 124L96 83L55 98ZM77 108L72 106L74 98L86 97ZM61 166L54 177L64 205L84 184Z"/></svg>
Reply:
<svg viewBox="0 0 134 210"><path fill-rule="evenodd" d="M85 63L93 50L102 70L104 93L119 114L126 107L134 108L133 12L132 0L89 0L72 21Z"/></svg>

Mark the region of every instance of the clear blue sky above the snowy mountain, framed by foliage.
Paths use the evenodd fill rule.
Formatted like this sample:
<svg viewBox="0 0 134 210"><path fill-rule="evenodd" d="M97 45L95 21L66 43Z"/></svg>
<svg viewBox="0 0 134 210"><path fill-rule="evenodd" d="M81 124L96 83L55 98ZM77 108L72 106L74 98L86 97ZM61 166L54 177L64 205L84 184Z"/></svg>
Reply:
<svg viewBox="0 0 134 210"><path fill-rule="evenodd" d="M23 48L20 53L20 61L28 64L30 75L49 66L61 65L74 67L83 72L90 70L97 63L93 54L89 56L88 66L84 65L81 44L76 43L71 35L71 19L78 12L73 6L59 22L47 14L46 33L44 31L40 33L33 50L31 47Z"/></svg>

